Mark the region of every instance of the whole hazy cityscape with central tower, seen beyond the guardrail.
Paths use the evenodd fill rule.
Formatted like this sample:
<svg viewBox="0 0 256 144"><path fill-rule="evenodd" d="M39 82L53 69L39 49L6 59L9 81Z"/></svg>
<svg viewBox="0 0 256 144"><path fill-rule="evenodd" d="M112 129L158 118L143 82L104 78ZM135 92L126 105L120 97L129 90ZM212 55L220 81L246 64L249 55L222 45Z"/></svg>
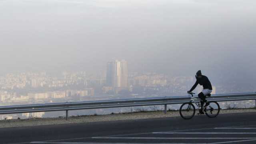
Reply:
<svg viewBox="0 0 256 144"><path fill-rule="evenodd" d="M155 72L130 72L125 60L107 62L106 70L62 72L48 75L45 72L16 73L0 76L0 106L76 102L122 98L185 96L194 84L194 76L172 76ZM233 84L214 84L212 94L238 93L255 90ZM218 91L217 91L218 89ZM194 91L202 92L202 86ZM247 104L241 103L241 104ZM250 101L250 104L254 101ZM229 105L230 103L221 103ZM21 114L2 115L0 119L18 118ZM24 114L23 118L43 117L44 113Z"/></svg>

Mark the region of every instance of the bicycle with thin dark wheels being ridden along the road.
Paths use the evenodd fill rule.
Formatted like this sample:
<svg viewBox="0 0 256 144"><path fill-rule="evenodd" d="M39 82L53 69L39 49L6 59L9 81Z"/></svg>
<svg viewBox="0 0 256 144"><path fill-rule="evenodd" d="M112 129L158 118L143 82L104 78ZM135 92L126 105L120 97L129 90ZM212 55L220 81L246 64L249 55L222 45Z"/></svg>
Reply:
<svg viewBox="0 0 256 144"><path fill-rule="evenodd" d="M215 118L220 113L220 105L218 104L218 102L210 101L208 102L209 105L207 107L204 107L205 102L203 106L201 106L200 102L196 102L197 100L200 101L200 99L193 97L195 93L189 92L188 94L191 95L190 102L185 102L180 106L180 116L182 118L186 120L193 118L196 113L194 104L196 104L196 106L198 107L199 112L204 112L204 114L206 114L206 116L208 116L209 118Z"/></svg>

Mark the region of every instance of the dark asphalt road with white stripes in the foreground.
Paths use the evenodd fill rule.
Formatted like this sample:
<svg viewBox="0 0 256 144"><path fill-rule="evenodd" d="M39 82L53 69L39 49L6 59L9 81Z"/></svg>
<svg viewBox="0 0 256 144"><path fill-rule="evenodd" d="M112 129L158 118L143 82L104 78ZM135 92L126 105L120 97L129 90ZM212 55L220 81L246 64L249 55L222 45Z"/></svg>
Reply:
<svg viewBox="0 0 256 144"><path fill-rule="evenodd" d="M0 128L2 144L255 144L256 112Z"/></svg>

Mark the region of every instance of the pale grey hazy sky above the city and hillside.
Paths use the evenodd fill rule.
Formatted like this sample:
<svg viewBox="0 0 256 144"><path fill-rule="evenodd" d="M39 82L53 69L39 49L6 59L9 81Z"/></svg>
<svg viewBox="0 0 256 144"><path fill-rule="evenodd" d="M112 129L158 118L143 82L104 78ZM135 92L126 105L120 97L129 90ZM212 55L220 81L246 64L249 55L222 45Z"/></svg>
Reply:
<svg viewBox="0 0 256 144"><path fill-rule="evenodd" d="M0 0L0 71L105 70L256 80L255 0ZM221 76L220 76L221 75Z"/></svg>

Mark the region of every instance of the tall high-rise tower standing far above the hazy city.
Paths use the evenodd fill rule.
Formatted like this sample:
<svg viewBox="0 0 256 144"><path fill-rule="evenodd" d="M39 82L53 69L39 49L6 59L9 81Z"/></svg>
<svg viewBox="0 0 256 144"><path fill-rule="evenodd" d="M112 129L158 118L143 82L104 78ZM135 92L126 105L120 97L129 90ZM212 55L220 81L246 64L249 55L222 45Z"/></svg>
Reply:
<svg viewBox="0 0 256 144"><path fill-rule="evenodd" d="M128 67L125 60L114 60L107 63L107 86L115 88L128 87Z"/></svg>

